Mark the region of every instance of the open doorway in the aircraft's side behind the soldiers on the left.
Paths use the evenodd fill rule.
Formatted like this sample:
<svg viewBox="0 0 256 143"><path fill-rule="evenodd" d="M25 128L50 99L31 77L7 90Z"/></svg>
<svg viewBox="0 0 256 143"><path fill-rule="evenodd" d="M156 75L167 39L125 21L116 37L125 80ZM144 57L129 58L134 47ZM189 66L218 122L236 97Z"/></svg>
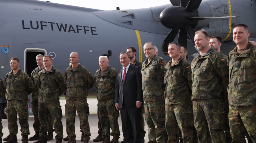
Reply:
<svg viewBox="0 0 256 143"><path fill-rule="evenodd" d="M26 48L24 51L24 71L31 76L32 71L37 67L36 56L38 54L46 55L45 49L38 48ZM32 107L32 93L28 96L28 114L33 115Z"/></svg>

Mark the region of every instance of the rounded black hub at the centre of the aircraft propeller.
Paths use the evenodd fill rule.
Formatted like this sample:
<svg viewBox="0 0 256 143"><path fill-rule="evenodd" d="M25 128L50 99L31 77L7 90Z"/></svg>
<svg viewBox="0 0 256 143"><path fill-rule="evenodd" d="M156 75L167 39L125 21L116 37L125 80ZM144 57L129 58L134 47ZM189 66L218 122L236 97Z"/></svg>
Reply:
<svg viewBox="0 0 256 143"><path fill-rule="evenodd" d="M195 16L196 14L197 11L188 12L185 7L182 6L170 6L161 12L160 21L165 27L171 29L181 29L184 28L185 25L194 27L197 21L191 21L187 17Z"/></svg>

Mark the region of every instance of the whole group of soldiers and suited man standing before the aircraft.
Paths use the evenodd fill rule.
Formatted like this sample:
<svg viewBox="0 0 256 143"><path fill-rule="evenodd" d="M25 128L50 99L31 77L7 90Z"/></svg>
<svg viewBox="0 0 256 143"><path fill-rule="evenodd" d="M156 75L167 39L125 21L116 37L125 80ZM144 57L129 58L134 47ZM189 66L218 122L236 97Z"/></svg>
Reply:
<svg viewBox="0 0 256 143"><path fill-rule="evenodd" d="M70 54L70 67L64 75L52 65L48 55L37 55L38 67L31 77L19 69L19 59L11 59L11 72L0 79L0 95L6 93L6 114L10 134L5 143L16 143L17 115L22 143L37 140L46 143L62 139L76 143L75 115L80 120L81 141L90 140L88 91L95 86L98 99L99 136L94 142L119 142L119 111L124 143L144 143L144 112L148 143L256 143L256 45L248 42L249 29L244 24L233 28L236 47L225 56L221 39L206 31L195 32L194 60L186 59L186 47L168 44L171 58L157 56L157 48L143 46L147 59L136 60L136 49L127 47L119 54L122 68L109 65L108 55L99 57L95 76L78 63L77 52ZM28 138L27 95L33 92L32 109L35 135ZM63 138L59 96L66 96L67 137ZM1 122L0 122L1 123ZM53 130L54 125L54 130ZM0 124L0 137L3 136ZM110 133L111 128L111 133ZM110 141L110 136L113 136ZM2 141L2 139L1 139Z"/></svg>

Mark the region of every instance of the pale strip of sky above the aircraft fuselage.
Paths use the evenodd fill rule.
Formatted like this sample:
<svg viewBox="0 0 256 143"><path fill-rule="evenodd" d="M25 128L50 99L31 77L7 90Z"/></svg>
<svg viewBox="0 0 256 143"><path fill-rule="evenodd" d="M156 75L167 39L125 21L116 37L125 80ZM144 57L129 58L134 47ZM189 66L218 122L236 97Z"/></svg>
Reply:
<svg viewBox="0 0 256 143"><path fill-rule="evenodd" d="M46 0L40 0L46 1ZM100 10L116 10L119 6L122 9L138 9L170 4L169 0L47 0L51 3L67 4L80 7L87 7Z"/></svg>

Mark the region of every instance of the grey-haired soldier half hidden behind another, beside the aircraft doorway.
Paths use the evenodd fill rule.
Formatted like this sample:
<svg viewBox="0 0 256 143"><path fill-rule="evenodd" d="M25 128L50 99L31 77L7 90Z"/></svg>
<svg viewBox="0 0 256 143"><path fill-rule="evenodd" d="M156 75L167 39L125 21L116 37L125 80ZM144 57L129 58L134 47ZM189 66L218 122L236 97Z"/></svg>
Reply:
<svg viewBox="0 0 256 143"><path fill-rule="evenodd" d="M38 65L37 68L35 68L32 73L31 73L31 79L33 80L33 83L35 84L37 76L39 71L41 71L44 66L43 66L43 55L39 54L36 56L36 64ZM37 140L39 139L39 130L40 130L40 122L38 118L38 87L35 86L33 93L32 93L32 112L34 115L34 123L33 123L33 128L35 131L35 135L30 137L28 140ZM47 126L48 126L48 134L47 134L47 140L52 140L53 139L53 134L52 132L54 131L53 129L53 123L52 123L52 117L50 114L48 114L48 121L47 121Z"/></svg>

